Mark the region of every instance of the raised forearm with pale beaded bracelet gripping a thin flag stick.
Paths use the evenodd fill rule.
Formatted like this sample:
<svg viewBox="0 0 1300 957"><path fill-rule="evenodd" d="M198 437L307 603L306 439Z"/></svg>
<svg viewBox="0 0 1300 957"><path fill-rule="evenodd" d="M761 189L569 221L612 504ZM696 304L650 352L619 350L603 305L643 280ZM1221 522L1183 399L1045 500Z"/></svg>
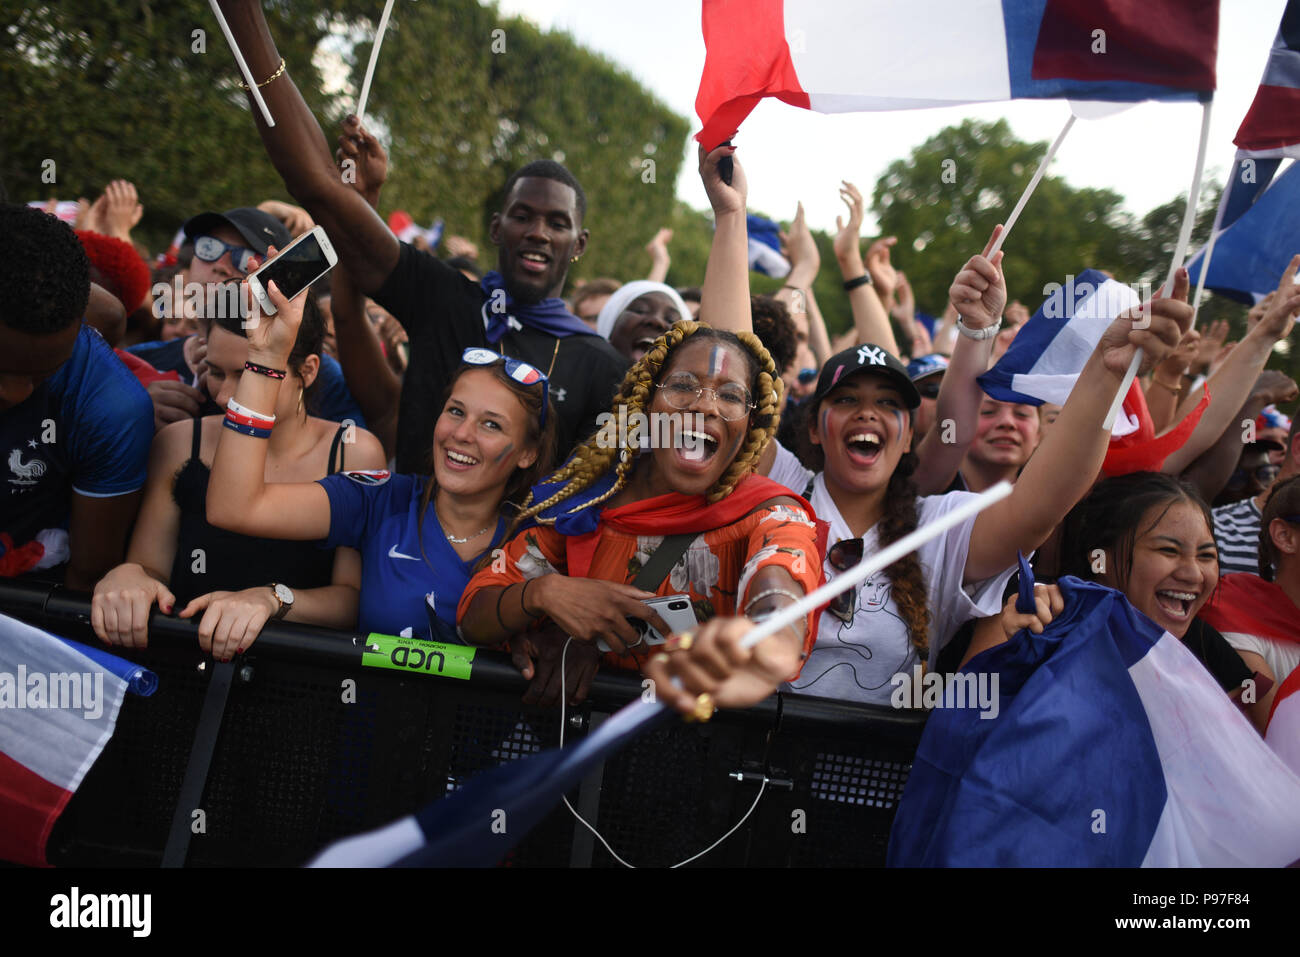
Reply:
<svg viewBox="0 0 1300 957"><path fill-rule="evenodd" d="M987 259L1001 233L1001 225L993 228L984 251L967 260L948 290L948 300L959 311L962 325L971 332L997 325L1006 306L1002 251L998 250L992 260ZM920 465L916 468L916 490L922 495L937 494L948 488L961 468L962 456L975 441L979 406L984 398L984 391L975 377L988 369L992 355L992 337L987 339L957 337L952 360L939 387L935 428L916 449L916 455L920 458ZM953 428L946 428L946 423L952 423Z"/></svg>

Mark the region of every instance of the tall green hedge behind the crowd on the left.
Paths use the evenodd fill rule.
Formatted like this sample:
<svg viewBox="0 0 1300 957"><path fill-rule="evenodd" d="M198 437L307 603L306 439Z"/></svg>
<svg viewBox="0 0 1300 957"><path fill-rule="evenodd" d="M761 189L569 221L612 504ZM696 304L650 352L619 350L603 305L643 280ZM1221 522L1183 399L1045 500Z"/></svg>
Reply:
<svg viewBox="0 0 1300 957"><path fill-rule="evenodd" d="M265 7L333 143L355 108L382 5ZM351 88L321 91L318 47L343 56ZM16 200L94 198L109 179L130 178L146 205L136 233L155 248L204 208L287 200L238 78L204 0L32 7L0 33L0 116L23 120L6 124L0 177ZM476 0L395 8L367 113L389 134L384 212L404 208L422 224L441 216L485 250L507 177L536 159L564 163L588 192L592 244L575 278L644 274L642 247L673 216L686 121L572 38ZM53 185L40 182L47 157L57 164Z"/></svg>

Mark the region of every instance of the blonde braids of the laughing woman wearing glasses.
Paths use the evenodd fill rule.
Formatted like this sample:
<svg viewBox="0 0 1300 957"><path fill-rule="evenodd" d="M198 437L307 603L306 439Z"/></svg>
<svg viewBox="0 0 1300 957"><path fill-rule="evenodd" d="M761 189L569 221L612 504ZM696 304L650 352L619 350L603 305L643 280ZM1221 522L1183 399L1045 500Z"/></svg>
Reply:
<svg viewBox="0 0 1300 957"><path fill-rule="evenodd" d="M638 428L628 429L623 436L620 446L618 429L619 410L627 411L625 421L633 420L637 412L645 415L654 398L654 389L663 374L672 354L689 339L714 339L718 342L737 346L746 359L750 373L750 394L755 397L757 406L749 416L749 433L736 458L732 459L727 471L723 472L718 482L708 490L707 501L718 502L731 494L732 489L758 465L758 459L767 447L768 441L776 432L781 415L781 378L776 372L772 358L763 348L753 333L728 333L712 329L702 322L682 320L673 325L655 339L654 346L628 369L619 386L618 395L614 397L614 419L602 430L592 436L580 445L572 458L558 472L551 475L547 482L564 482L564 485L542 502L533 502L532 493L524 501L524 508L515 523L517 528L523 521L538 516L552 506L572 498L580 492L589 489L611 468L615 472L614 485L602 495L593 498L581 506L590 508L616 495L628 482L632 469L636 467L637 454L641 451L641 434ZM537 518L540 524L554 524L554 518ZM514 528L511 529L514 532Z"/></svg>

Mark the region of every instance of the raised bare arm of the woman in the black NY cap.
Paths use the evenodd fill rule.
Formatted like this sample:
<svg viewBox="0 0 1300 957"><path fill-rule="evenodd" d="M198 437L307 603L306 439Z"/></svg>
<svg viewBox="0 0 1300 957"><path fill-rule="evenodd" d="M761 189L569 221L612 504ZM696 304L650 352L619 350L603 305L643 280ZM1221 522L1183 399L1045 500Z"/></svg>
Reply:
<svg viewBox="0 0 1300 957"><path fill-rule="evenodd" d="M1014 492L975 519L963 581L983 581L1015 564L1017 551L1027 555L1039 547L1087 494L1110 442L1101 423L1134 350L1144 351L1149 368L1169 355L1191 326L1187 286L1187 270L1179 269L1171 298L1128 309L1110 324Z"/></svg>

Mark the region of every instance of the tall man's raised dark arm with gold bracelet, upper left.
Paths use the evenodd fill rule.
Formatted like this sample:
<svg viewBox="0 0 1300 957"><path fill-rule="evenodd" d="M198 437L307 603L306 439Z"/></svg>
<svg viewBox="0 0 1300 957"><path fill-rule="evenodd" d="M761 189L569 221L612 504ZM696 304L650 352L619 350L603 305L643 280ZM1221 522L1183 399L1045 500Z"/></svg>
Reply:
<svg viewBox="0 0 1300 957"><path fill-rule="evenodd" d="M220 7L254 78L263 82L274 74L281 57L261 4L257 0L220 0ZM334 169L325 134L290 72L263 86L261 95L276 125L265 125L251 96L250 109L285 189L325 228L361 291L376 293L396 265L396 237Z"/></svg>

